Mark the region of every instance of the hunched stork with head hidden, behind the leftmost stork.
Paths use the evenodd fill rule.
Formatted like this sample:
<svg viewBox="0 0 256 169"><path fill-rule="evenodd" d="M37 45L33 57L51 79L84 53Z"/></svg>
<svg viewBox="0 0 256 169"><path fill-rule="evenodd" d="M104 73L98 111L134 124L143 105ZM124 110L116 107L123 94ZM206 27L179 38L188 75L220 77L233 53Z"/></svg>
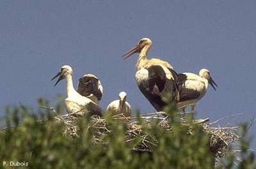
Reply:
<svg viewBox="0 0 256 169"><path fill-rule="evenodd" d="M92 99L94 103L99 105L102 98L103 87L99 78L92 74L85 74L79 78L77 92L82 96Z"/></svg>

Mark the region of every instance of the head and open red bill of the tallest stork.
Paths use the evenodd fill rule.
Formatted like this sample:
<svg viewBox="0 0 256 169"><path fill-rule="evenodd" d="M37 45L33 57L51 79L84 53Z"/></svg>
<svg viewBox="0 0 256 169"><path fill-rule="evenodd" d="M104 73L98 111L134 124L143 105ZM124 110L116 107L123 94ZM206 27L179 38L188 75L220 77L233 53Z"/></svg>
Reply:
<svg viewBox="0 0 256 169"><path fill-rule="evenodd" d="M150 38L142 38L137 45L135 45L133 48L131 48L131 50L129 50L128 52L126 52L123 55L123 59L127 59L129 56L131 56L132 54L141 52L141 50L144 47L148 47L148 49L151 47L152 41L150 40ZM147 50L148 50L147 49Z"/></svg>

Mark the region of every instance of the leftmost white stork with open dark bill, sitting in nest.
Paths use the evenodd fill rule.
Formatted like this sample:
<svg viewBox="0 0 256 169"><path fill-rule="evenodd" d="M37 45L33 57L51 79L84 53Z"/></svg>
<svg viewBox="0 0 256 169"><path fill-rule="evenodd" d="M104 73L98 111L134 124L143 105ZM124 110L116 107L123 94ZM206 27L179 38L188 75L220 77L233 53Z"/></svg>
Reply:
<svg viewBox="0 0 256 169"><path fill-rule="evenodd" d="M67 98L65 99L65 105L68 114L72 115L99 115L102 116L101 108L94 103L91 99L81 96L73 86L72 81L72 68L68 65L62 66L60 72L54 77L59 77L56 86L61 80L67 80ZM52 80L54 80L52 78Z"/></svg>

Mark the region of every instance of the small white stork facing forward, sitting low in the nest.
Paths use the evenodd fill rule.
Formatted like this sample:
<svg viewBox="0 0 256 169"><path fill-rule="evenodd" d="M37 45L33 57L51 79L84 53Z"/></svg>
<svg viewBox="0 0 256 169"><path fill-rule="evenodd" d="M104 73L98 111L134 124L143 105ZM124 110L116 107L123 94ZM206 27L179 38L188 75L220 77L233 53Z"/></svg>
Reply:
<svg viewBox="0 0 256 169"><path fill-rule="evenodd" d="M126 101L126 92L119 93L119 99L116 99L109 103L106 112L110 112L113 115L124 114L125 117L131 116L131 105Z"/></svg>

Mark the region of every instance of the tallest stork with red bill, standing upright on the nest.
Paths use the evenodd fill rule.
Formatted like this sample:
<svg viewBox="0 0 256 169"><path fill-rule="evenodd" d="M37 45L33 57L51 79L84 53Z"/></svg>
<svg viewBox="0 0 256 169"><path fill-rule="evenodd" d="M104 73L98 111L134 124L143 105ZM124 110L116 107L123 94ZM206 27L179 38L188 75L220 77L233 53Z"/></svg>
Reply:
<svg viewBox="0 0 256 169"><path fill-rule="evenodd" d="M136 82L145 98L156 108L163 111L166 103L163 101L165 93L172 96L172 102L179 102L178 75L173 67L161 59L147 59L147 52L152 45L149 38L142 38L138 45L123 55L127 59L132 54L139 52L136 63Z"/></svg>

